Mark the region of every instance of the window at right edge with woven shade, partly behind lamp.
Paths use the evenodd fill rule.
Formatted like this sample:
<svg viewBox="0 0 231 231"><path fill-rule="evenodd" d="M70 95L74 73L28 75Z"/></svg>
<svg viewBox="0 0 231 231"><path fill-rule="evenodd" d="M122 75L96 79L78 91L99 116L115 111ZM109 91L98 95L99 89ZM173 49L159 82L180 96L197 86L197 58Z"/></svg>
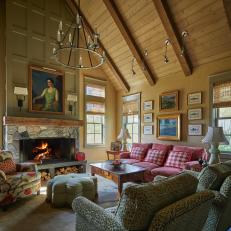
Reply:
<svg viewBox="0 0 231 231"><path fill-rule="evenodd" d="M231 153L231 81L213 83L213 115L215 126L223 127L229 145L219 145L222 153Z"/></svg>

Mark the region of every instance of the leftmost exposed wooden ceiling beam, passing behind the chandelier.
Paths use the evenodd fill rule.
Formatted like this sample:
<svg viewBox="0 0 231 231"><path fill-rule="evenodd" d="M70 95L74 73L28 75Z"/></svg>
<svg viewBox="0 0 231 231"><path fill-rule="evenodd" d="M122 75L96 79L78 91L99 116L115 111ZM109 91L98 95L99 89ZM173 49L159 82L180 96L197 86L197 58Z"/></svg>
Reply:
<svg viewBox="0 0 231 231"><path fill-rule="evenodd" d="M84 16L83 12L81 11L81 9L78 8L75 0L66 0L66 3L67 3L68 7L70 8L70 10L71 10L71 12L73 13L74 16L76 16L77 9L78 9L79 14L82 16L82 18L84 20L84 23L85 23L85 26L87 27L87 30L89 30L93 34L94 33L93 28L91 27L91 25L89 24L89 22L85 18L85 16ZM116 64L114 63L113 59L111 58L111 56L109 55L109 53L107 52L107 50L105 49L105 47L103 46L101 41L98 41L98 42L99 42L100 47L102 47L102 49L105 52L105 56L107 58L106 59L107 64L109 65L110 69L115 74L115 76L117 77L117 80L119 81L120 85L122 86L122 88L126 92L130 91L130 86L129 86L128 82L123 77L122 73L120 72L120 70L118 69Z"/></svg>

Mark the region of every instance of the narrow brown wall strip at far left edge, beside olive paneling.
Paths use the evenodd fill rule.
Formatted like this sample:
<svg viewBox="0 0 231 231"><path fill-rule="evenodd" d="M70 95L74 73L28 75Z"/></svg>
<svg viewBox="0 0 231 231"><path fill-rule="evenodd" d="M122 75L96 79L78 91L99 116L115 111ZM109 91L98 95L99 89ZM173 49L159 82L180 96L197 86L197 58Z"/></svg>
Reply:
<svg viewBox="0 0 231 231"><path fill-rule="evenodd" d="M0 0L0 118L5 115L5 0ZM0 148L2 147L2 124L0 126Z"/></svg>

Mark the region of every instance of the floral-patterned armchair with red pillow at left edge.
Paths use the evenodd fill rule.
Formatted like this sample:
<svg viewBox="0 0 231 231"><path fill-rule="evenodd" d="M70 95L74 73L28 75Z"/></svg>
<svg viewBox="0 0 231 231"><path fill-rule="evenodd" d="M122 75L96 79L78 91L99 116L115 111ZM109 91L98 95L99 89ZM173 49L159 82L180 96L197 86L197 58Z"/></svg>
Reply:
<svg viewBox="0 0 231 231"><path fill-rule="evenodd" d="M39 194L41 175L32 163L16 164L9 151L0 151L0 207Z"/></svg>

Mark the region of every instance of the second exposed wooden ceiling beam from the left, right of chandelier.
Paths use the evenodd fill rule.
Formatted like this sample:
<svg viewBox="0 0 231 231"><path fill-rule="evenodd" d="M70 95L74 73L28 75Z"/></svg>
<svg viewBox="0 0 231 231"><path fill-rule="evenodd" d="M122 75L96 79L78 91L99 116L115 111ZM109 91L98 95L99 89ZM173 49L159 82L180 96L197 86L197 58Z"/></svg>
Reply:
<svg viewBox="0 0 231 231"><path fill-rule="evenodd" d="M126 41L128 47L130 48L132 55L134 56L138 65L143 71L146 79L148 80L150 85L154 85L155 76L152 73L148 63L146 62L143 52L139 49L139 46L135 42L135 39L133 38L131 32L129 31L114 1L113 0L103 0L103 1L108 11L110 12L112 18L114 19L114 22L116 23L118 29L120 30L124 40Z"/></svg>

